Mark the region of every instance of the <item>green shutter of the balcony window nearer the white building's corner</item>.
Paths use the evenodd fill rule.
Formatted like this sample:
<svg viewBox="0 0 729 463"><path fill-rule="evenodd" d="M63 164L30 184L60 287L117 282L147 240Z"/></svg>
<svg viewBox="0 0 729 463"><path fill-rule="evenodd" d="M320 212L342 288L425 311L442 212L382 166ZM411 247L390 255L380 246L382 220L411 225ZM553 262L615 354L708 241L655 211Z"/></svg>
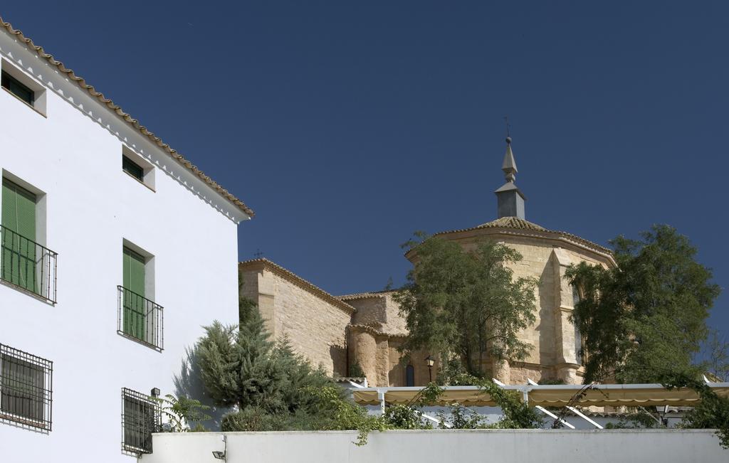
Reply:
<svg viewBox="0 0 729 463"><path fill-rule="evenodd" d="M124 286L124 332L146 341L145 318L147 302L144 299L144 257L124 248L122 277Z"/></svg>

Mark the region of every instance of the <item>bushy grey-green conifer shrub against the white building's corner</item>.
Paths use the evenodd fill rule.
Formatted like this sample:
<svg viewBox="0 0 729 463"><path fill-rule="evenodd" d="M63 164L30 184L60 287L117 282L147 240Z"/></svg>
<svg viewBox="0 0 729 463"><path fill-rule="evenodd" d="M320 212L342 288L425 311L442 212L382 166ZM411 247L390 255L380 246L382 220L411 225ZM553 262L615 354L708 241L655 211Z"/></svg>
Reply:
<svg viewBox="0 0 729 463"><path fill-rule="evenodd" d="M215 405L237 409L222 420L222 430L310 429L307 422L321 414L312 391L341 391L286 338L270 341L257 309L239 327L214 322L205 330L195 346L203 384Z"/></svg>

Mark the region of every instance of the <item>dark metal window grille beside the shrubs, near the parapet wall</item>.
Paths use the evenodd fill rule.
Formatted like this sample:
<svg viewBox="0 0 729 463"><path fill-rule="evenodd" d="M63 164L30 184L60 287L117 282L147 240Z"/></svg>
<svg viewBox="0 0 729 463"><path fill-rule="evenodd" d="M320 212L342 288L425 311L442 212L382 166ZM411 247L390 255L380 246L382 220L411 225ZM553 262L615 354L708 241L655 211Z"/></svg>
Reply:
<svg viewBox="0 0 729 463"><path fill-rule="evenodd" d="M160 428L160 408L148 395L122 388L122 451L152 453L152 432Z"/></svg>

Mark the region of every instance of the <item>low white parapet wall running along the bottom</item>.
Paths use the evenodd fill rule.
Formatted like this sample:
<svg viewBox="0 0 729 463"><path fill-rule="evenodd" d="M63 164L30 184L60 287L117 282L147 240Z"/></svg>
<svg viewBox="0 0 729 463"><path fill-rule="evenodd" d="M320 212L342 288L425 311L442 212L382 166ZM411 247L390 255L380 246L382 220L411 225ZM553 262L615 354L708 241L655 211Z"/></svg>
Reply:
<svg viewBox="0 0 729 463"><path fill-rule="evenodd" d="M224 441L225 437L225 441ZM154 436L142 463L729 462L712 430L189 432ZM226 442L227 441L227 442Z"/></svg>

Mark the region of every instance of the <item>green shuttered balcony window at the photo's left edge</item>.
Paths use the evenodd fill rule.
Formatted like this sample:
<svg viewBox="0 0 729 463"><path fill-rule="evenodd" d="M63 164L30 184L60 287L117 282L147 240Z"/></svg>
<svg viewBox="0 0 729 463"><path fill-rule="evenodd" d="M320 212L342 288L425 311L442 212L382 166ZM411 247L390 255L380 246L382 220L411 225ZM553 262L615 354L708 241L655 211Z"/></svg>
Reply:
<svg viewBox="0 0 729 463"><path fill-rule="evenodd" d="M0 277L39 292L36 275L36 195L3 178Z"/></svg>

